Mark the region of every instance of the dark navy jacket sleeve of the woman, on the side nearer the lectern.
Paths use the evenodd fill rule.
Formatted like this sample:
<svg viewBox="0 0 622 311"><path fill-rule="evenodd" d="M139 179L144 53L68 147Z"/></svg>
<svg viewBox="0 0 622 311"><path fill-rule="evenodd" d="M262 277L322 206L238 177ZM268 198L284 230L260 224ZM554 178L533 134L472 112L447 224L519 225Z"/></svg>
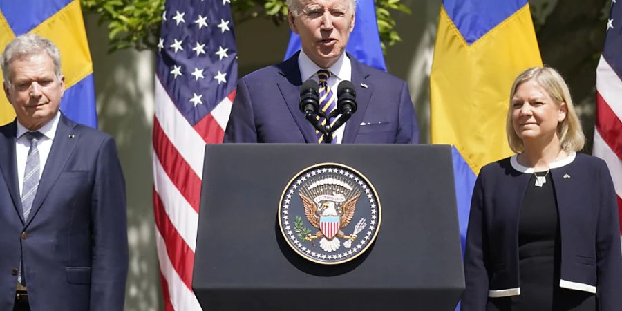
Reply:
<svg viewBox="0 0 622 311"><path fill-rule="evenodd" d="M484 225L484 187L480 173L473 198L471 198L471 212L469 227L466 232L466 247L464 253L464 279L466 290L462 294L460 308L462 311L486 310L488 299L489 277L487 267L488 249L487 232Z"/></svg>

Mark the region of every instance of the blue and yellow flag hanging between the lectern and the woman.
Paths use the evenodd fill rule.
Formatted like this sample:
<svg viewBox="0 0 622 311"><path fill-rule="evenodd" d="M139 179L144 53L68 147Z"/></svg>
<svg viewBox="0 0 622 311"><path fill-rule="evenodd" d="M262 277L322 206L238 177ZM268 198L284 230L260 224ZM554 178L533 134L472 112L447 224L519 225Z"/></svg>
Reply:
<svg viewBox="0 0 622 311"><path fill-rule="evenodd" d="M475 176L511 155L505 118L513 80L542 66L527 0L444 0L430 77L431 140L453 145L464 249Z"/></svg>

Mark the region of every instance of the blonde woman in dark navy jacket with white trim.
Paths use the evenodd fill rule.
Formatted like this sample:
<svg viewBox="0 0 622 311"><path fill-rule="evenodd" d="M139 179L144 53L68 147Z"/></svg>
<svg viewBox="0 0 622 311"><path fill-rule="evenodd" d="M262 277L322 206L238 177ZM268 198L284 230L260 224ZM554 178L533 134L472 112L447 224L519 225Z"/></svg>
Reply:
<svg viewBox="0 0 622 311"><path fill-rule="evenodd" d="M511 88L514 156L475 182L462 311L622 310L618 209L605 162L585 137L563 78L525 70Z"/></svg>

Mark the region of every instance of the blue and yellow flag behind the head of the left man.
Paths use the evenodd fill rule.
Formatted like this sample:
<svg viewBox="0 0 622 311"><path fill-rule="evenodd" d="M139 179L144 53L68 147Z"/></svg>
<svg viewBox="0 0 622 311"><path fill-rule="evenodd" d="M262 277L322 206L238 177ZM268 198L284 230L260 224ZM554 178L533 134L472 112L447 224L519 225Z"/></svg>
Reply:
<svg viewBox="0 0 622 311"><path fill-rule="evenodd" d="M26 32L50 39L60 50L65 76L61 111L75 122L97 127L93 62L79 0L0 0L0 51ZM0 95L0 125L14 118L6 97Z"/></svg>

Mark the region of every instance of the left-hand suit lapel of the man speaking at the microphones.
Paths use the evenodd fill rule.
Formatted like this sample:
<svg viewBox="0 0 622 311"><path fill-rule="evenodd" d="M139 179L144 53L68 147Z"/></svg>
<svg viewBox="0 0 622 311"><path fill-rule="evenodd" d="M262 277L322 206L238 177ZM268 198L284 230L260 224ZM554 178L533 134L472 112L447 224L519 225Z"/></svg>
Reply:
<svg viewBox="0 0 622 311"><path fill-rule="evenodd" d="M281 95L283 95L285 104L287 104L288 109L290 109L290 113L296 125L298 125L300 132L305 138L305 142L314 143L317 142L315 129L308 120L305 119L305 115L301 113L299 108L300 86L302 85L300 68L298 66L299 53L300 52L296 53L294 56L290 57L290 59L278 65L280 69L279 73L283 75L285 79L281 79L277 84L279 85L279 90L281 91Z"/></svg>

